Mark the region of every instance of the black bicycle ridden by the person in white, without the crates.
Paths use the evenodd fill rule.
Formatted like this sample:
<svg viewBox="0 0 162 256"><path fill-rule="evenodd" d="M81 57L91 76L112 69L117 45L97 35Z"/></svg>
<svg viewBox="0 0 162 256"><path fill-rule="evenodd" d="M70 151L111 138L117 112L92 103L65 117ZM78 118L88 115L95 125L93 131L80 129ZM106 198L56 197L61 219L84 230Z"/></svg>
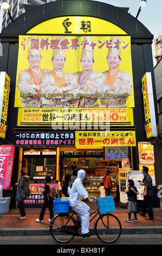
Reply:
<svg viewBox="0 0 162 256"><path fill-rule="evenodd" d="M96 210L90 214L94 215L89 223L94 220L94 235L104 243L113 243L117 241L121 235L121 223L119 219L109 212L101 214L99 206L96 204L97 199L94 198ZM72 215L70 215L72 212ZM74 218L76 215L76 218ZM90 217L89 216L89 217ZM81 224L77 212L69 207L69 213L57 214L50 222L49 231L53 239L59 243L68 243L73 240L74 236L82 236Z"/></svg>

